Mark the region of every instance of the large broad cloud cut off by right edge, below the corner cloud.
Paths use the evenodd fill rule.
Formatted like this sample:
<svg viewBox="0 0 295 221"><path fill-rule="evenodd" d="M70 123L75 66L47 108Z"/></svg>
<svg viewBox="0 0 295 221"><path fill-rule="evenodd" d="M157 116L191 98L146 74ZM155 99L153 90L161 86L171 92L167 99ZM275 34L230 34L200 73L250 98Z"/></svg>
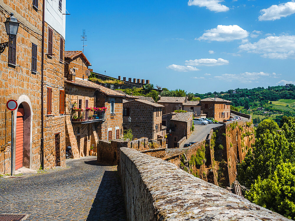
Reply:
<svg viewBox="0 0 295 221"><path fill-rule="evenodd" d="M239 46L240 50L260 54L262 57L286 59L295 57L295 35L269 36L255 43Z"/></svg>

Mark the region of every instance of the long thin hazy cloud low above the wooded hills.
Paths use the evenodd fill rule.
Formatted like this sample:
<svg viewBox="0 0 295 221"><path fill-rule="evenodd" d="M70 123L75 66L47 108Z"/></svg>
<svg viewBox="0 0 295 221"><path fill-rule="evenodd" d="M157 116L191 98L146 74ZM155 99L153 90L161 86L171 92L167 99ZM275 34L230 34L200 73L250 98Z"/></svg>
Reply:
<svg viewBox="0 0 295 221"><path fill-rule="evenodd" d="M265 72L245 72L241 74L222 74L215 76L215 78L228 82L237 81L240 83L252 83L266 76L270 76L270 74Z"/></svg>

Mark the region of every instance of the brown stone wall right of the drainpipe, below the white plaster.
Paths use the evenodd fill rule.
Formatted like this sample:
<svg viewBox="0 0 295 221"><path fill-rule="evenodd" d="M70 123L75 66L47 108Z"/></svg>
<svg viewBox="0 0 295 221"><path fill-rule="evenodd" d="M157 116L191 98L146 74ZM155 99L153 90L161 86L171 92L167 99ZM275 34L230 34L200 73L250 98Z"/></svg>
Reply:
<svg viewBox="0 0 295 221"><path fill-rule="evenodd" d="M53 29L53 55L48 54L48 27L44 38L44 168L55 167L55 135L60 133L60 166L65 166L65 114L60 114L60 90L64 90L64 64L60 62L60 37ZM51 27L50 27L51 28ZM63 44L64 51L64 44ZM52 112L47 114L47 88L52 88Z"/></svg>

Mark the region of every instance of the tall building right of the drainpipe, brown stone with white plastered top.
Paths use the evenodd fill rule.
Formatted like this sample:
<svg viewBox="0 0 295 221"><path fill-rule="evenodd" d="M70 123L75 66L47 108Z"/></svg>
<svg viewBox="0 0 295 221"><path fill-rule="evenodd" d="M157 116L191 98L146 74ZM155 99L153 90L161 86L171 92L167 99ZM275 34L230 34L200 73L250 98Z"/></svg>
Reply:
<svg viewBox="0 0 295 221"><path fill-rule="evenodd" d="M45 1L44 168L65 166L65 1Z"/></svg>

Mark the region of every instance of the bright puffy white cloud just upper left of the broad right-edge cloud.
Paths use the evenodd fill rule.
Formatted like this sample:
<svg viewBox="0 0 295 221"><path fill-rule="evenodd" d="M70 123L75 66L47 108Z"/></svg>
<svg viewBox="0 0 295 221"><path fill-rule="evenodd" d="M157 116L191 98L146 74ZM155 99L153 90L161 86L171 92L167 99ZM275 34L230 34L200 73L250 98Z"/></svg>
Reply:
<svg viewBox="0 0 295 221"><path fill-rule="evenodd" d="M207 41L233 41L237 39L244 39L248 37L248 32L242 29L240 26L234 25L217 25L216 28L206 30L206 32L195 40L207 40Z"/></svg>

